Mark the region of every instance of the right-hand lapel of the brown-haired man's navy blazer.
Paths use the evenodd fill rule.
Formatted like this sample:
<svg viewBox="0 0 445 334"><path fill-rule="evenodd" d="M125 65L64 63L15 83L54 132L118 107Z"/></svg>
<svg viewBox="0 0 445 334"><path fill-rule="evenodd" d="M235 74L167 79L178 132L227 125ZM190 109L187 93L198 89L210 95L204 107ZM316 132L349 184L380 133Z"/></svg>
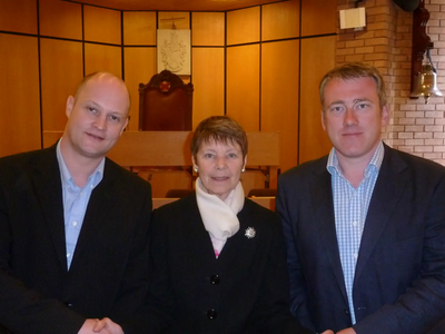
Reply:
<svg viewBox="0 0 445 334"><path fill-rule="evenodd" d="M404 191L404 185L409 181L408 175L402 173L405 168L405 163L385 145L385 156L366 215L355 279L363 273L369 255Z"/></svg>

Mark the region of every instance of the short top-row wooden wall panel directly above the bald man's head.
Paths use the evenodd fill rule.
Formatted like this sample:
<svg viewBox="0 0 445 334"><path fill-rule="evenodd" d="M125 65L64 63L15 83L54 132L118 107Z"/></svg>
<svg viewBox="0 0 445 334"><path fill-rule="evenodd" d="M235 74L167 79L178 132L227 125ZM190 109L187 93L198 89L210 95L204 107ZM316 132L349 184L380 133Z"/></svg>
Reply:
<svg viewBox="0 0 445 334"><path fill-rule="evenodd" d="M92 6L83 7L85 40L121 43L120 11Z"/></svg>

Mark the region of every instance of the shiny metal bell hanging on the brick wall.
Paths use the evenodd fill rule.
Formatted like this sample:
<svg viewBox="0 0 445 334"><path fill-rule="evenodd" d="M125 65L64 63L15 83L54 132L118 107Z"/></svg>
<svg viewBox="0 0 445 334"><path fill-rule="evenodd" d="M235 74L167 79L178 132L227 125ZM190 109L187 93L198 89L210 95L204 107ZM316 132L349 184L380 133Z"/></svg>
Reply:
<svg viewBox="0 0 445 334"><path fill-rule="evenodd" d="M424 97L425 104L428 102L431 96L443 96L437 88L437 70L431 59L431 49L426 49L422 71L417 75L416 87L411 94L412 98Z"/></svg>

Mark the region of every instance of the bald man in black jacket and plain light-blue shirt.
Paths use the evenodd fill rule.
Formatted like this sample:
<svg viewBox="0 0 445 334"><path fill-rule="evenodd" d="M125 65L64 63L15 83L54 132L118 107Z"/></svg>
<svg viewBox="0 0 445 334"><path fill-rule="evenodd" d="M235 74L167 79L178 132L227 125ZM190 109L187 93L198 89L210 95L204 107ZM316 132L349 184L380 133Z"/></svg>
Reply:
<svg viewBox="0 0 445 334"><path fill-rule="evenodd" d="M151 187L105 157L129 107L121 79L90 75L55 146L0 159L0 333L132 333Z"/></svg>

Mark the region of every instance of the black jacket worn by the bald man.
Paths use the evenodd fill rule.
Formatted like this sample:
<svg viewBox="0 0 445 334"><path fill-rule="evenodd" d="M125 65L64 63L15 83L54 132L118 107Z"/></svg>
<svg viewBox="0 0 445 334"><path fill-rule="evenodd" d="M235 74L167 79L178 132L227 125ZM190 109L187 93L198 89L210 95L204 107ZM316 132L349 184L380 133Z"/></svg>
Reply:
<svg viewBox="0 0 445 334"><path fill-rule="evenodd" d="M56 146L1 158L0 333L78 333L103 316L123 326L148 287L150 215L150 185L107 159L67 271Z"/></svg>

